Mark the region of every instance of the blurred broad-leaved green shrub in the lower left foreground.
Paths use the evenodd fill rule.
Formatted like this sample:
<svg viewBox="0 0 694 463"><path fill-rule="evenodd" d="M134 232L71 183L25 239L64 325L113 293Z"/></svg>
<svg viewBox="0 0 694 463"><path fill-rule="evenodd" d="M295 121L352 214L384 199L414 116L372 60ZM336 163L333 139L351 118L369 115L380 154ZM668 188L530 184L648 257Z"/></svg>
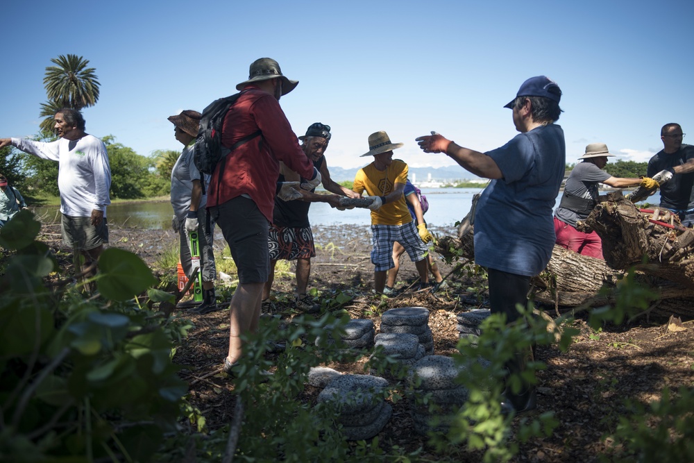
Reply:
<svg viewBox="0 0 694 463"><path fill-rule="evenodd" d="M39 229L22 211L0 230L12 251L0 278L0 460L148 461L176 429L187 387L171 348L187 327L137 305L155 278L126 251L102 253L88 299L71 278L44 284L59 269Z"/></svg>

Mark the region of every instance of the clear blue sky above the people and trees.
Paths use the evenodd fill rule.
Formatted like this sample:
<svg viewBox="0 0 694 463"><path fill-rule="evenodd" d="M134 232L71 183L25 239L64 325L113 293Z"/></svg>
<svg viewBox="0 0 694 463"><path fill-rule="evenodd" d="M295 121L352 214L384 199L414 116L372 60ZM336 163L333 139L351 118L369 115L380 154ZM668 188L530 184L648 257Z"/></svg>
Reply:
<svg viewBox="0 0 694 463"><path fill-rule="evenodd" d="M694 2L667 0L12 1L0 137L37 133L45 68L72 53L101 82L83 111L88 133L142 155L180 150L167 117L232 94L268 56L300 81L280 101L295 133L332 126L329 166L365 165L380 130L405 143L396 157L412 167L455 164L418 149L432 130L479 151L501 146L516 135L502 106L540 74L564 92L567 162L595 142L645 161L668 122L694 143L693 13Z"/></svg>

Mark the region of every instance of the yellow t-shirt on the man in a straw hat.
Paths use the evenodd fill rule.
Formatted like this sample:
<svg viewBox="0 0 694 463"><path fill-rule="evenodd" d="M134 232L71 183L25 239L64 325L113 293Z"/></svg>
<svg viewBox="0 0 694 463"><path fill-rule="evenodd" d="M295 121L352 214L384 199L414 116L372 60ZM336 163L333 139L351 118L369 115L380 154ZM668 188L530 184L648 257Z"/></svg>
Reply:
<svg viewBox="0 0 694 463"><path fill-rule="evenodd" d="M376 169L371 162L359 169L352 189L359 194L366 191L369 196L385 196L393 191L396 183L407 183L407 170L407 163L399 159L393 159L384 171ZM411 221L404 194L379 210L371 211L371 225L404 225Z"/></svg>

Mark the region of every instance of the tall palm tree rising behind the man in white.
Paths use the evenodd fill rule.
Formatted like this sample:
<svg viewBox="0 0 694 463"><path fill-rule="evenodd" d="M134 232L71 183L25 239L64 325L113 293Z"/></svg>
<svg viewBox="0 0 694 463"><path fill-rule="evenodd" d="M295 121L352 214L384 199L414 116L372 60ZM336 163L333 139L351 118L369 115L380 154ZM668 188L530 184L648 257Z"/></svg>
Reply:
<svg viewBox="0 0 694 463"><path fill-rule="evenodd" d="M41 128L53 129L54 110L60 108L72 108L81 110L94 106L99 100L99 86L101 85L94 74L93 67L87 67L89 60L81 56L60 55L51 58L56 66L46 67L44 87L48 103L42 103L41 116L46 117L41 123Z"/></svg>

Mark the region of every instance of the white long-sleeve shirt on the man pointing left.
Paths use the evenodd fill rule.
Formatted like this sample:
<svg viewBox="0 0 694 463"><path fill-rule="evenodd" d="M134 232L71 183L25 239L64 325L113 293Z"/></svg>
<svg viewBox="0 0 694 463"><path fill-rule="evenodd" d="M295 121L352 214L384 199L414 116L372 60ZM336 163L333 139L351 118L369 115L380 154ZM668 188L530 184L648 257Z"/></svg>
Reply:
<svg viewBox="0 0 694 463"><path fill-rule="evenodd" d="M12 146L42 159L58 162L60 212L71 217L90 217L111 203L111 167L106 146L94 135L79 140L34 142L12 138Z"/></svg>

